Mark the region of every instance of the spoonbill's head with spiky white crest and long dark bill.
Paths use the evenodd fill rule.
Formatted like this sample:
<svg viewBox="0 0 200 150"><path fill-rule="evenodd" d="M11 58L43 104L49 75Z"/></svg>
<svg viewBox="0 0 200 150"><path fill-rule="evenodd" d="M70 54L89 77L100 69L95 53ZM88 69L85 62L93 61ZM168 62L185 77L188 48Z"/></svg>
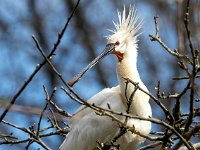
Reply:
<svg viewBox="0 0 200 150"><path fill-rule="evenodd" d="M134 7L130 6L127 16L125 7L122 13L118 11L118 18L118 23L113 22L115 29L109 30L113 34L107 36L108 44L106 45L104 51L99 56L97 56L87 67L85 67L78 75L70 80L68 82L69 86L73 86L76 82L78 82L89 69L91 69L105 56L113 53L118 57L119 62L121 62L124 58L124 54L126 54L129 50L132 50L132 48L137 47L137 31L140 29L142 22L137 24L138 17L136 16Z"/></svg>

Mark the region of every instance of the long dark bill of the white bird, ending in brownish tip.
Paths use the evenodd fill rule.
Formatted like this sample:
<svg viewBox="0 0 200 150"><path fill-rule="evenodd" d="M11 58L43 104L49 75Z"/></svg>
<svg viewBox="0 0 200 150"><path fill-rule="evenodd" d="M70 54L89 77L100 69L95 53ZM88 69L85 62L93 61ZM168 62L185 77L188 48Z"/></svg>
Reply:
<svg viewBox="0 0 200 150"><path fill-rule="evenodd" d="M73 79L68 82L69 86L73 86L76 82L78 82L82 76L91 69L94 65L96 65L100 60L102 60L105 56L111 54L115 50L115 44L107 44L104 51L97 56L87 67L85 67L79 74L75 75Z"/></svg>

